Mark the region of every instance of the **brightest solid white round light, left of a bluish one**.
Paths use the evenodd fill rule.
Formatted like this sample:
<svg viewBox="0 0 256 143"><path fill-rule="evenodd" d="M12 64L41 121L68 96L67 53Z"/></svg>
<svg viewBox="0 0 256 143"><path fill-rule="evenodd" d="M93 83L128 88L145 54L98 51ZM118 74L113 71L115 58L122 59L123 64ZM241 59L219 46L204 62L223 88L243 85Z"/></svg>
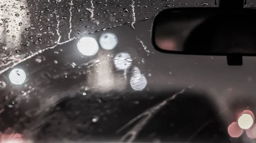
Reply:
<svg viewBox="0 0 256 143"><path fill-rule="evenodd" d="M93 56L99 50L97 41L92 37L83 37L77 43L77 48L80 53L85 56Z"/></svg>

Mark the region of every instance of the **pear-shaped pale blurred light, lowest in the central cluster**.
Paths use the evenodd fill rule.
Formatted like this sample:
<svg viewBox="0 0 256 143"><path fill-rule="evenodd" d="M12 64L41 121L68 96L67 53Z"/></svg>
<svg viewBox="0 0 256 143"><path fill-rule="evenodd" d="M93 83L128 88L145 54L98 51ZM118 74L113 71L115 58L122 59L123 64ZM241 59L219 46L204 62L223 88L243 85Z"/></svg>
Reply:
<svg viewBox="0 0 256 143"><path fill-rule="evenodd" d="M134 67L132 74L133 75L130 80L131 88L136 91L143 90L147 85L145 76L140 73L138 67Z"/></svg>

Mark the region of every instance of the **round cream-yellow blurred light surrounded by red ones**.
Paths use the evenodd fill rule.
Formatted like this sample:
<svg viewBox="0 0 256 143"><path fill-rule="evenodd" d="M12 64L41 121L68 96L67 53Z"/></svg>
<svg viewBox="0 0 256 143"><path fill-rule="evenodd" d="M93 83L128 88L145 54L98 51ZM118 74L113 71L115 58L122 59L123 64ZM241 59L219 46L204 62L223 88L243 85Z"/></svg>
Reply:
<svg viewBox="0 0 256 143"><path fill-rule="evenodd" d="M249 129L253 126L253 117L249 114L242 114L238 118L238 125L241 129Z"/></svg>

